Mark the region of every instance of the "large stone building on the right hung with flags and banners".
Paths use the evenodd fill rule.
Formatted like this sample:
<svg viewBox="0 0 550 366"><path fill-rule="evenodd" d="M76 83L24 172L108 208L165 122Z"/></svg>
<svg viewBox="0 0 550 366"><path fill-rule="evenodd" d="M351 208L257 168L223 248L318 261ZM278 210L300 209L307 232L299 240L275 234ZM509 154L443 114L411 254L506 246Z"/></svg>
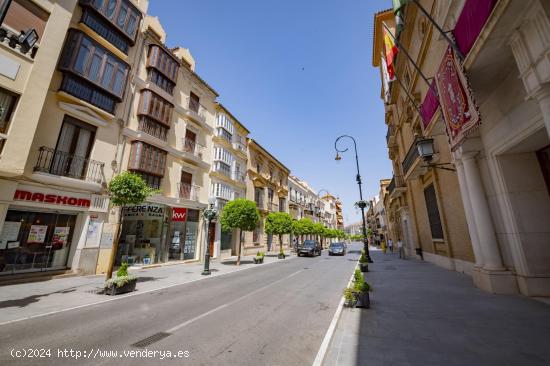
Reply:
<svg viewBox="0 0 550 366"><path fill-rule="evenodd" d="M420 4L453 30L455 42L441 37L416 4L403 10L400 42L425 76L435 76L424 82L400 55L395 70L403 86L392 82L382 91L389 96L395 186L403 188L392 210L400 212L405 242L422 247L428 260L471 274L487 291L548 296L550 5ZM381 65L382 22L391 25L391 13L375 16L375 66ZM449 75L458 75L455 83ZM449 107L457 95L467 114ZM426 164L421 152L456 171Z"/></svg>

